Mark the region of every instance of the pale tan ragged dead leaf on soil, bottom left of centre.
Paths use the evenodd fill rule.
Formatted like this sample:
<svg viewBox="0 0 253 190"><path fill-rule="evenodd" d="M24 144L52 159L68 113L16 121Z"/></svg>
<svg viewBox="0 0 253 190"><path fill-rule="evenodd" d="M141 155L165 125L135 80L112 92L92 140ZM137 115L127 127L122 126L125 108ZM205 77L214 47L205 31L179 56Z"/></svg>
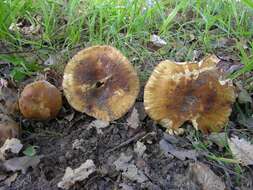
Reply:
<svg viewBox="0 0 253 190"><path fill-rule="evenodd" d="M96 171L96 166L92 160L86 160L80 167L76 169L66 168L62 180L57 184L59 188L69 189L78 181L83 181L89 177L90 174Z"/></svg>

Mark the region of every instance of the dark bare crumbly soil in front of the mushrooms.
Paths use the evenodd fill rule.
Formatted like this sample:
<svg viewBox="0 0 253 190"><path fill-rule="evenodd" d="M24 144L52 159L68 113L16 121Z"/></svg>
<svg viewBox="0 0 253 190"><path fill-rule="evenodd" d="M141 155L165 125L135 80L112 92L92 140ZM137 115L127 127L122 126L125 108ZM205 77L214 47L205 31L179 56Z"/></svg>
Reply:
<svg viewBox="0 0 253 190"><path fill-rule="evenodd" d="M139 101L136 105L141 113L142 102ZM58 189L57 183L64 175L66 167L77 168L87 159L94 161L97 167L96 173L87 180L76 183L71 190L202 189L188 172L189 164L194 160L180 160L171 154L164 154L160 149L159 142L164 138L161 128L144 115L141 126L137 130L132 130L127 127L126 118L127 116L103 129L103 134L98 134L96 129L88 129L92 118L74 112L65 103L56 120L43 123L22 120L23 128L32 131L31 134L24 132L22 142L38 146L38 155L44 157L35 169L29 170L26 174L20 173L10 187L0 183L1 190ZM168 138L168 135L166 137L168 141L176 143L178 148L189 146L189 142L182 137ZM73 149L74 141L81 139L80 147ZM141 157L134 151L136 141L141 141L147 148ZM119 146L124 142L127 143ZM134 163L147 177L145 182L138 183L129 180L122 176L122 172L115 169L113 163L122 153L132 157L131 163ZM198 160L205 159L200 154ZM222 169L215 167L211 162L206 162L206 164L209 164L221 177L225 177ZM248 179L242 183L242 187L246 185L245 189L247 189L251 177L249 174ZM226 183L228 186L233 186L231 179ZM242 187L231 189L243 189Z"/></svg>

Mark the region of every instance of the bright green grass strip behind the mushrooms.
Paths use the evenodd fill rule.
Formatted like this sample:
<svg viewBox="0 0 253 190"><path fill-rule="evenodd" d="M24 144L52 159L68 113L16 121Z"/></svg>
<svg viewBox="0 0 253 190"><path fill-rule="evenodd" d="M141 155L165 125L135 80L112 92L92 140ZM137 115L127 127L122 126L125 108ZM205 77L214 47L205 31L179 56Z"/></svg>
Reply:
<svg viewBox="0 0 253 190"><path fill-rule="evenodd" d="M170 58L176 53L171 43L187 43L190 32L194 42L186 44L187 52L180 54L180 59L190 60L193 49L214 51L212 43L217 38L250 41L253 9L247 5L235 0L5 0L0 3L0 39L11 49L46 49L49 54L80 44L112 44L129 56L135 54L133 49L150 56L143 47L156 33L169 42L162 56ZM36 15L42 17L37 38L9 31L21 18L36 23Z"/></svg>

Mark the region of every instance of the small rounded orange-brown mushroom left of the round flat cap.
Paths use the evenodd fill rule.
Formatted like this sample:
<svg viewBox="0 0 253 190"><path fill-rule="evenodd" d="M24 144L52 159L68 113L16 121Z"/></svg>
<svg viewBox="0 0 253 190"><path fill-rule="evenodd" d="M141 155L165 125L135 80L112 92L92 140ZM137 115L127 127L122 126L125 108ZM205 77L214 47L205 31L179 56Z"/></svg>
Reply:
<svg viewBox="0 0 253 190"><path fill-rule="evenodd" d="M52 119L56 117L61 106L60 91L44 80L26 85L19 98L20 112L29 119Z"/></svg>

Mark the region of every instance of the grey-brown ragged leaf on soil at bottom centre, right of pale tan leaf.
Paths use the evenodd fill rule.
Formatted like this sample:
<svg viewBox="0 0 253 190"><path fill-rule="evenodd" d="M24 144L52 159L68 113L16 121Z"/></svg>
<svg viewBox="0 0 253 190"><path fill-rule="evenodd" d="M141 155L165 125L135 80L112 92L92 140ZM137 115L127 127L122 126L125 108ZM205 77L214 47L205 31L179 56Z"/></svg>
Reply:
<svg viewBox="0 0 253 190"><path fill-rule="evenodd" d="M131 163L132 156L126 156L124 153L113 163L117 171L122 171L122 175L126 178L143 183L148 180L144 173Z"/></svg>

